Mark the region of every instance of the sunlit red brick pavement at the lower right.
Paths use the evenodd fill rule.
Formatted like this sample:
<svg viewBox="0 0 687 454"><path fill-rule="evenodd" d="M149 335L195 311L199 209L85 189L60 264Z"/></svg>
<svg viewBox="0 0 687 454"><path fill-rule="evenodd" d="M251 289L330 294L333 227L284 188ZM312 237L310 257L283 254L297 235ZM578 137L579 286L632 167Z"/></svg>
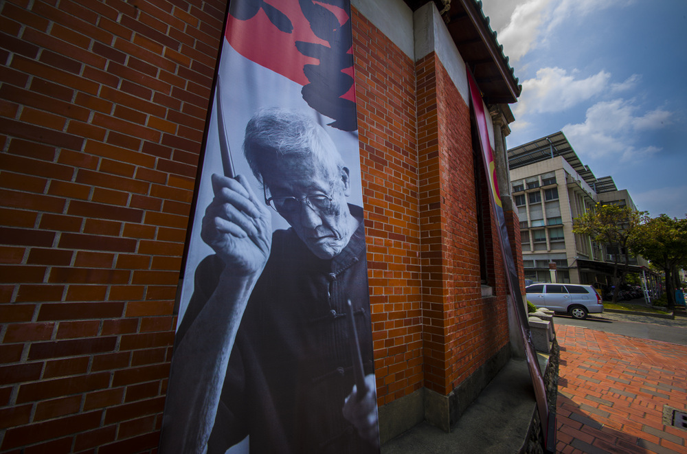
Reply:
<svg viewBox="0 0 687 454"><path fill-rule="evenodd" d="M556 326L561 348L559 453L687 453L687 431L662 422L687 411L687 347Z"/></svg>

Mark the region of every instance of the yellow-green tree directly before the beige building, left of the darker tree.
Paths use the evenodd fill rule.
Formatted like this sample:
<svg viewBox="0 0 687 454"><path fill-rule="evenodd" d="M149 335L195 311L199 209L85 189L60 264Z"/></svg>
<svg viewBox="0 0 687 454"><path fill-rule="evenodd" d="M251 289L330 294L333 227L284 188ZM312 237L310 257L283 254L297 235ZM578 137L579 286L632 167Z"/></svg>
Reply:
<svg viewBox="0 0 687 454"><path fill-rule="evenodd" d="M618 251L613 254L613 285L616 287L613 291L613 303L616 302L620 282L629 266L627 250L633 245L635 230L642 222L644 214L646 212L638 212L628 206L597 203L592 211L575 218L575 224L572 227L574 233L589 235L593 241L606 244ZM618 256L623 250L625 251L625 266L621 269Z"/></svg>

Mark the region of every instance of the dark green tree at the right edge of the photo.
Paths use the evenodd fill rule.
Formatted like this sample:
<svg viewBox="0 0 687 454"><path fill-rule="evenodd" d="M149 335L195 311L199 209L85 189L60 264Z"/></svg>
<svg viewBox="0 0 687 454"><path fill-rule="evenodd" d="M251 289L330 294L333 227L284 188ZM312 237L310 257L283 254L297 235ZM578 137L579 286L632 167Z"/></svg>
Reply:
<svg viewBox="0 0 687 454"><path fill-rule="evenodd" d="M673 276L677 269L687 266L687 219L670 218L666 214L657 218L645 216L632 249L666 273L668 310L675 309Z"/></svg>

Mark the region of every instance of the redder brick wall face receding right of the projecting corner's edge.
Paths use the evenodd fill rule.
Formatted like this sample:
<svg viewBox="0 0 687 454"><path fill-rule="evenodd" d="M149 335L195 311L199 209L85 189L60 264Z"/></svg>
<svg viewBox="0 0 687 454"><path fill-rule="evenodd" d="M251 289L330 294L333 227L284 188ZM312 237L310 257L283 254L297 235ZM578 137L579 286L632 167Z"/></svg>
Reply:
<svg viewBox="0 0 687 454"><path fill-rule="evenodd" d="M444 378L449 385L446 394L508 343L508 314L498 227L493 222L482 157L473 159L469 106L439 60L436 80L440 172L445 182L440 197L446 217L441 227L447 297L442 310L447 332L444 348L450 359ZM480 198L475 190L476 173ZM485 299L480 286L477 204L482 210L487 282L498 295Z"/></svg>

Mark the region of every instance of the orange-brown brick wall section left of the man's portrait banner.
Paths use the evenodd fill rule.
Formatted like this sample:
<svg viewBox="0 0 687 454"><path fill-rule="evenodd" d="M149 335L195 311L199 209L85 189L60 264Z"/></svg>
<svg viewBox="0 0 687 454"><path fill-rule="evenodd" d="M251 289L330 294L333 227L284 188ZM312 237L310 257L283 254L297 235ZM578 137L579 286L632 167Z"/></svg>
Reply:
<svg viewBox="0 0 687 454"><path fill-rule="evenodd" d="M0 4L0 452L157 448L225 6Z"/></svg>

